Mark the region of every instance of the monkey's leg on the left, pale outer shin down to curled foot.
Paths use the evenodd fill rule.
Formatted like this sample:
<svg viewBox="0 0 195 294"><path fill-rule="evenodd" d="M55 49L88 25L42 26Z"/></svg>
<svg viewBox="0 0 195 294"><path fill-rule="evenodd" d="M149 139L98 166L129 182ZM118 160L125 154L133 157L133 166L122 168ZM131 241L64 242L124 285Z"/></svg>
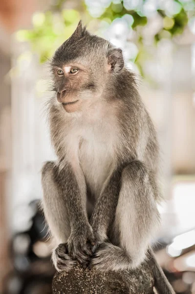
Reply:
<svg viewBox="0 0 195 294"><path fill-rule="evenodd" d="M65 242L70 235L70 223L64 199L59 195L53 179L54 162L47 162L42 171L43 209L51 235L59 244L52 252L56 270L71 270L76 262L67 254Z"/></svg>

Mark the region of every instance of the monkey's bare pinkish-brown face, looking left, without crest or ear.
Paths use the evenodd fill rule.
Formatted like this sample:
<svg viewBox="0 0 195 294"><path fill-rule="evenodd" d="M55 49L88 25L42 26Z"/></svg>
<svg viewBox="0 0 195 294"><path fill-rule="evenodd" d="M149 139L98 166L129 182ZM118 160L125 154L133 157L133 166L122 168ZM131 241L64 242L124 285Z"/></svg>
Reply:
<svg viewBox="0 0 195 294"><path fill-rule="evenodd" d="M98 86L91 69L82 63L72 61L54 67L53 73L56 98L66 112L85 109L102 92L102 84Z"/></svg>

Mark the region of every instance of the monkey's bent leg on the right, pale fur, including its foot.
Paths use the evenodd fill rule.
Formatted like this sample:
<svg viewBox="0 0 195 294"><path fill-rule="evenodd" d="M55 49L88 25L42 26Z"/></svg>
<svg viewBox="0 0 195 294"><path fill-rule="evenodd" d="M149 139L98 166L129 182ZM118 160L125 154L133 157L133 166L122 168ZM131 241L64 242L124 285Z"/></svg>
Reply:
<svg viewBox="0 0 195 294"><path fill-rule="evenodd" d="M112 232L118 246L100 245L91 261L93 268L103 271L134 269L144 261L160 219L154 197L156 189L152 173L142 162L134 160L124 168ZM110 199L109 195L107 197Z"/></svg>

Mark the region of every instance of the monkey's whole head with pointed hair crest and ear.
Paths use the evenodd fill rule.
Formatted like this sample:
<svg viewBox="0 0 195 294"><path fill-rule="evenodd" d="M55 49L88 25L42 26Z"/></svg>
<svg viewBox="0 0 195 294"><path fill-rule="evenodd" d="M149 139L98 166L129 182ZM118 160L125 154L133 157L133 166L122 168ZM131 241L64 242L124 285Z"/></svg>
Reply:
<svg viewBox="0 0 195 294"><path fill-rule="evenodd" d="M110 81L124 68L121 49L91 35L79 22L55 52L52 73L56 98L66 112L85 109L102 97Z"/></svg>

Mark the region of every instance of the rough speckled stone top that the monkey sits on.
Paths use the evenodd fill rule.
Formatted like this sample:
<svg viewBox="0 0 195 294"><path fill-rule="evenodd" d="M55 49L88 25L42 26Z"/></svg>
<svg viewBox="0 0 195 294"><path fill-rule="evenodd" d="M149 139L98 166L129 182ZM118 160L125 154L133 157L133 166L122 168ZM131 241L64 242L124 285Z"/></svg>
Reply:
<svg viewBox="0 0 195 294"><path fill-rule="evenodd" d="M154 277L149 265L107 273L77 266L68 273L55 274L53 294L153 294Z"/></svg>

